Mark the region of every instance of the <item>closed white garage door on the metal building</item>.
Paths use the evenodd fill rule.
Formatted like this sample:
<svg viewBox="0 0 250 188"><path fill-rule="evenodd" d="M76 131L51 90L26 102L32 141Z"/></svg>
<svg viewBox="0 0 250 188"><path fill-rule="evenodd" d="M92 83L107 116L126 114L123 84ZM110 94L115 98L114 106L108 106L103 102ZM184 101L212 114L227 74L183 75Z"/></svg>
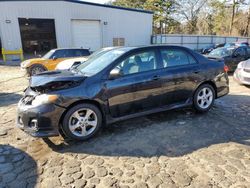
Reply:
<svg viewBox="0 0 250 188"><path fill-rule="evenodd" d="M101 28L99 21L72 20L73 46L90 48L91 51L101 48Z"/></svg>

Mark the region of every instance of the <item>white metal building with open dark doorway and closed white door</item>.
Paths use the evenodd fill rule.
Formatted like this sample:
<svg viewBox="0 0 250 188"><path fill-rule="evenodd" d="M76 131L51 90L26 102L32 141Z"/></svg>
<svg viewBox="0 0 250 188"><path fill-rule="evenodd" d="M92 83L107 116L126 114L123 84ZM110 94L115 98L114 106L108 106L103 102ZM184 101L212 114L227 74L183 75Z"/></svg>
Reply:
<svg viewBox="0 0 250 188"><path fill-rule="evenodd" d="M79 0L0 1L2 48L24 51L147 45L153 13Z"/></svg>

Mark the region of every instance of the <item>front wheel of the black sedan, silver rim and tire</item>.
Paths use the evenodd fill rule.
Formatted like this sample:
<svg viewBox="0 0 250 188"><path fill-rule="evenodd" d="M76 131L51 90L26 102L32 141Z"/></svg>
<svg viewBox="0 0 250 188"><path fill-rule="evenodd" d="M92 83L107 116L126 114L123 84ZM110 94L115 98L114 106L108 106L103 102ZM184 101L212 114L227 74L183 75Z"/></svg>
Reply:
<svg viewBox="0 0 250 188"><path fill-rule="evenodd" d="M65 115L62 130L74 140L87 140L101 128L102 114L92 104L79 104L72 107Z"/></svg>

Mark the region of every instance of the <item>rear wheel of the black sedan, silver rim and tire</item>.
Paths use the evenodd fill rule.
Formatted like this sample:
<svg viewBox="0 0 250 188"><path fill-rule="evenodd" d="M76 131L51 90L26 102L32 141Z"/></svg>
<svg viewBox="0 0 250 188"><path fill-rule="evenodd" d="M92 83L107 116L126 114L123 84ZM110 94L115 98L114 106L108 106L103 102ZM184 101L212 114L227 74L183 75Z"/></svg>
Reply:
<svg viewBox="0 0 250 188"><path fill-rule="evenodd" d="M203 84L196 90L194 94L194 108L198 112L207 112L213 106L214 99L214 88L209 84Z"/></svg>

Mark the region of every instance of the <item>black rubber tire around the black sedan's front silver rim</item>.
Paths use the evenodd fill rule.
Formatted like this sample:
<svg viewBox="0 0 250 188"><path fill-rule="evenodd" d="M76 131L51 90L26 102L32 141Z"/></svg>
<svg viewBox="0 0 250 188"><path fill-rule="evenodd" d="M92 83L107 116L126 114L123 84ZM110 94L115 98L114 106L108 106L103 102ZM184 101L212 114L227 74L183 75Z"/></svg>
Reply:
<svg viewBox="0 0 250 188"><path fill-rule="evenodd" d="M82 110L82 109L90 109L91 111L93 111L95 113L95 117L97 118L97 125L94 128L93 132L91 132L89 135L77 136L77 135L75 135L77 133L77 131L75 134L73 134L72 131L70 130L70 121L71 121L72 115L75 112L78 112L79 110ZM95 105L88 104L88 103L78 104L76 106L73 106L65 114L63 121L62 121L62 131L64 132L66 137L73 139L73 140L79 140L79 141L84 141L84 140L88 140L88 139L92 138L93 136L95 136L98 133L98 131L100 130L101 127L102 127L101 111ZM79 127L79 129L80 129L80 127ZM79 132L81 132L81 130L79 130Z"/></svg>

